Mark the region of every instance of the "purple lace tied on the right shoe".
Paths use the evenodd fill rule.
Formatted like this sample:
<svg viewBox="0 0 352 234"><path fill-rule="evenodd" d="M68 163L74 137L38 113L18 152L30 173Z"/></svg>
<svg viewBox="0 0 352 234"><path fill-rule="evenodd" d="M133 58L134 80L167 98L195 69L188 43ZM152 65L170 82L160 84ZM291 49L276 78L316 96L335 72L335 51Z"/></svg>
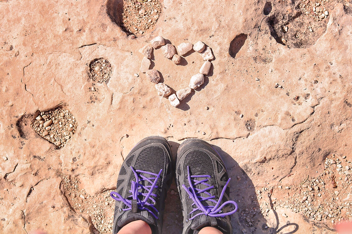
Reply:
<svg viewBox="0 0 352 234"><path fill-rule="evenodd" d="M190 214L192 214L192 213L194 213L194 212L196 212L198 210L200 211L200 213L198 213L198 214L194 215L193 217L189 218L189 220L192 220L196 216L202 215L202 214L208 215L210 217L222 217L222 218L224 218L225 216L232 215L233 213L235 213L237 211L237 203L234 202L234 201L231 201L231 200L230 201L226 201L226 202L222 203L222 205L220 205L222 197L225 194L226 187L227 187L228 183L230 182L231 178L228 178L228 180L226 182L226 185L222 189L222 192L220 194L219 200L215 201L214 200L215 196L211 195L209 192L207 192L208 190L214 188L213 185L210 186L207 183L207 181L209 181L209 179L203 179L203 180L193 179L193 178L211 178L211 176L210 175L190 175L189 166L187 166L187 169L188 169L187 178L188 178L189 187L187 188L185 185L182 185L182 187L188 193L189 198L193 200L192 206L196 205L196 208L194 208L190 212ZM198 185L198 184L205 185L205 186L207 186L207 188L205 188L205 189L195 188L195 186ZM208 197L201 196L201 193L207 194ZM211 201L211 202L215 203L215 206L204 206L202 204L202 201ZM229 204L234 205L235 209L233 209L233 210L231 210L229 212L226 212L226 213L221 213L222 212L222 208L227 206L227 205L229 205Z"/></svg>

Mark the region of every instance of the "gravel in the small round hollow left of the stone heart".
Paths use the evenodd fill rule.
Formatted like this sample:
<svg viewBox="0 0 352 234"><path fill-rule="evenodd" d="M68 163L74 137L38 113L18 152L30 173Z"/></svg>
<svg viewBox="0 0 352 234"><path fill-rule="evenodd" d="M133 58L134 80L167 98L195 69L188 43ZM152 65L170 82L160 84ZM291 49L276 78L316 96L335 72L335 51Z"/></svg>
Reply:
<svg viewBox="0 0 352 234"><path fill-rule="evenodd" d="M93 80L97 82L104 82L109 79L111 72L112 67L110 62L104 58L95 59L90 62L90 74L92 74Z"/></svg>

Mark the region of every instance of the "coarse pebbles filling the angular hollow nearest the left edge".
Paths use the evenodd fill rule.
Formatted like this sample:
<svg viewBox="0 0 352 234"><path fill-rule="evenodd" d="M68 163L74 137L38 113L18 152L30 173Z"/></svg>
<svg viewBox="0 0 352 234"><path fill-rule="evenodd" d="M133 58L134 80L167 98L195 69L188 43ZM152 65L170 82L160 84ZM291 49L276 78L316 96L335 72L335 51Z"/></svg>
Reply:
<svg viewBox="0 0 352 234"><path fill-rule="evenodd" d="M42 138L61 148L76 132L77 121L68 109L58 107L40 112L31 127Z"/></svg>

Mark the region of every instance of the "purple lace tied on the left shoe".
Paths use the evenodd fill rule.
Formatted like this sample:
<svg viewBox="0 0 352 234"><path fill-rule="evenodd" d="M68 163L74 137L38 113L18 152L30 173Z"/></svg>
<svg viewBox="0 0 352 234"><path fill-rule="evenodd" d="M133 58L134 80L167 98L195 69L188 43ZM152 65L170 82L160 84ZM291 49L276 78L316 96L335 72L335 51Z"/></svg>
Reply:
<svg viewBox="0 0 352 234"><path fill-rule="evenodd" d="M111 192L110 196L116 201L122 201L123 203L125 203L125 205L128 208L122 209L124 211L131 210L133 208L133 201L134 201L134 202L137 202L137 207L139 210L147 210L149 213L151 213L151 215L153 215L154 218L159 219L158 216L155 214L155 213L158 213L158 210L154 207L156 203L155 199L157 198L157 195L153 193L153 189L158 188L156 184L160 178L160 175L163 169L160 170L159 174L141 171L141 170L134 170L132 166L131 166L131 169L132 169L132 172L134 173L134 176L136 177L136 181L133 181L133 180L131 181L132 183L131 190L128 191L129 193L132 193L132 195L128 196L125 199L121 196L121 194L117 192ZM155 177L148 178L142 174L149 174ZM147 181L151 185L142 185L143 181ZM139 192L139 190L141 189L144 189L147 193ZM143 200L140 199L141 197L143 197ZM151 200L152 203L150 203L148 199Z"/></svg>

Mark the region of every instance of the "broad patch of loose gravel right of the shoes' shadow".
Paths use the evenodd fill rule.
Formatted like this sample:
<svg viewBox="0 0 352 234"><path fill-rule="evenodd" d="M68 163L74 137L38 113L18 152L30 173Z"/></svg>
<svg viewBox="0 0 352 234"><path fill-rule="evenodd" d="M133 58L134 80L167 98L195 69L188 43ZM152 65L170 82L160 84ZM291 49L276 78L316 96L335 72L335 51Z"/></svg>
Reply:
<svg viewBox="0 0 352 234"><path fill-rule="evenodd" d="M331 227L336 222L352 219L351 164L342 156L331 154L325 160L322 173L308 175L301 183L290 185L289 192L282 186L257 187L257 198L263 215L269 215L271 206L268 197L262 196L262 192L269 194L274 191L271 197L281 194L280 197L284 198L272 198L274 209L287 208L311 221L321 221Z"/></svg>

